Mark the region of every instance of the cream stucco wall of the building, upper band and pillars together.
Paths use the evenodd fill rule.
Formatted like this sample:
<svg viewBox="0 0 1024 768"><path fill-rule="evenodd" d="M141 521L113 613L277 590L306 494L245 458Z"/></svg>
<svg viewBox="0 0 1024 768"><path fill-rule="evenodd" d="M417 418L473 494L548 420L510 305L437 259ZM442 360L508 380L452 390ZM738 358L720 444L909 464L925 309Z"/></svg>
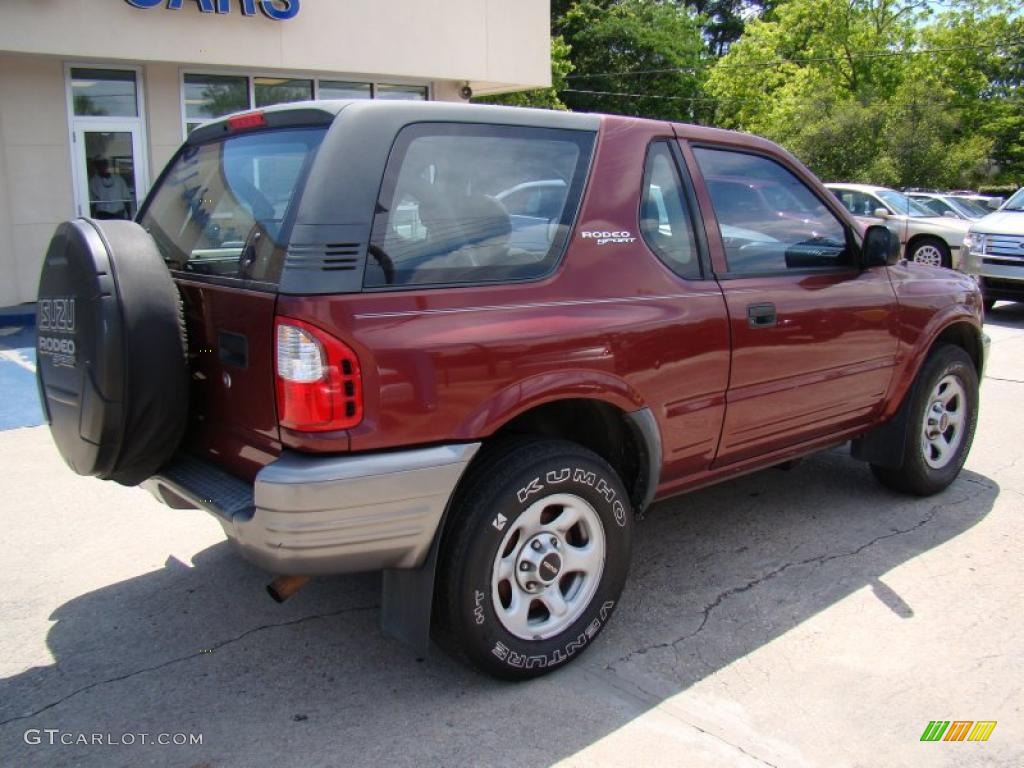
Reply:
<svg viewBox="0 0 1024 768"><path fill-rule="evenodd" d="M35 300L53 229L76 215L69 63L141 68L151 182L182 139L183 70L429 83L439 100L466 82L550 85L548 0L301 0L288 22L240 8L0 0L0 306Z"/></svg>

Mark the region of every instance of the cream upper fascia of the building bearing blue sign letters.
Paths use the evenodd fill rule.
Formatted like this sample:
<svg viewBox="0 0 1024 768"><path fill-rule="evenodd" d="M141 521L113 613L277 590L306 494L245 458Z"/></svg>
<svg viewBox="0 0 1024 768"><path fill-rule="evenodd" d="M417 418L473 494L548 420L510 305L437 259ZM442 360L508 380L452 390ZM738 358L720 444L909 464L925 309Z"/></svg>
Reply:
<svg viewBox="0 0 1024 768"><path fill-rule="evenodd" d="M273 22L125 0L4 0L0 50L470 81L478 91L550 84L548 0L301 0Z"/></svg>

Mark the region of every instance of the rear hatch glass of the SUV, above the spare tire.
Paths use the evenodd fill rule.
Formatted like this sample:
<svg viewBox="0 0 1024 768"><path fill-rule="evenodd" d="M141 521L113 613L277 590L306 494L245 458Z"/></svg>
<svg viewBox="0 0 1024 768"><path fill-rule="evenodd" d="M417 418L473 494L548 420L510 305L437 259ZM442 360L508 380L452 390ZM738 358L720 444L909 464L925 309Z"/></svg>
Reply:
<svg viewBox="0 0 1024 768"><path fill-rule="evenodd" d="M283 229L324 133L265 131L186 146L140 219L168 266L276 283Z"/></svg>

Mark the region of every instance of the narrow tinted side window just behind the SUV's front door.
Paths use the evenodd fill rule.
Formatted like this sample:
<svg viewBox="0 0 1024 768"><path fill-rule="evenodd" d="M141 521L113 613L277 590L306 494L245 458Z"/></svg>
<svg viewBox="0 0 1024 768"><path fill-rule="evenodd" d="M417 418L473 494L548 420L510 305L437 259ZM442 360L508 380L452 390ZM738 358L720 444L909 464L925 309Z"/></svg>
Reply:
<svg viewBox="0 0 1024 768"><path fill-rule="evenodd" d="M644 242L681 278L700 276L693 218L672 151L665 141L651 144L643 174L640 233Z"/></svg>

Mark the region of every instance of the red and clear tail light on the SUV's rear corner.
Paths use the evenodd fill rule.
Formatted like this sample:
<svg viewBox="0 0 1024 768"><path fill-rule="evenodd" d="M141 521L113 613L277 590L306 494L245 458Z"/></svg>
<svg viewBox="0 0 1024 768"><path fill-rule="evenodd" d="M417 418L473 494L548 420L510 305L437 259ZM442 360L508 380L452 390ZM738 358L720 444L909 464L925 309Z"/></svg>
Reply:
<svg viewBox="0 0 1024 768"><path fill-rule="evenodd" d="M304 432L350 429L362 421L359 358L308 323L279 317L278 421Z"/></svg>

